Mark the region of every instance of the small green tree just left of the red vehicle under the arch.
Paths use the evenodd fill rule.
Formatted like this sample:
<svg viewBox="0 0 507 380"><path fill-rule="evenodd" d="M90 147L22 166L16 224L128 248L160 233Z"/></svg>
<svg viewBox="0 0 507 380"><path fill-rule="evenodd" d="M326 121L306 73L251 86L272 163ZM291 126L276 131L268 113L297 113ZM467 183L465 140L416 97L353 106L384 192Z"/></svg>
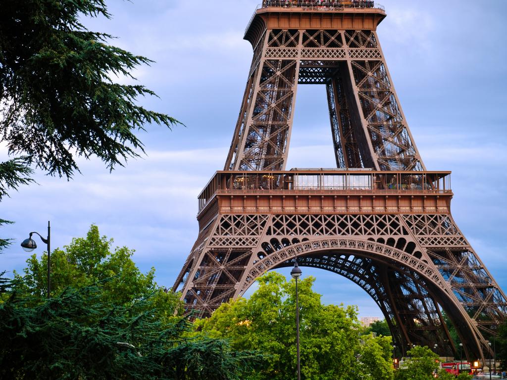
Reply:
<svg viewBox="0 0 507 380"><path fill-rule="evenodd" d="M427 347L416 346L409 350L405 368L396 371L395 380L431 380L439 369L439 356Z"/></svg>

